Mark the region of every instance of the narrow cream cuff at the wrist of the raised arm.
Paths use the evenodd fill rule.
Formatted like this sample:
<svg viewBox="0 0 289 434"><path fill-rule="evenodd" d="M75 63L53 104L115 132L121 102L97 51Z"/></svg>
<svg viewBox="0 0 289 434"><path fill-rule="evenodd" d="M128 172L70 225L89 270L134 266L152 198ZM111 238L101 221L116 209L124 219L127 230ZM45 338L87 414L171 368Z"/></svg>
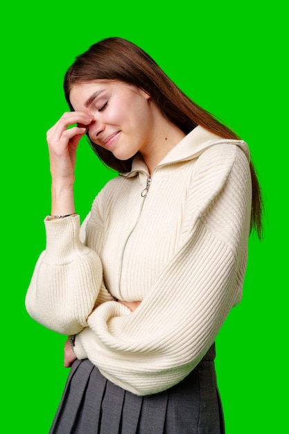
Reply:
<svg viewBox="0 0 289 434"><path fill-rule="evenodd" d="M69 263L78 253L89 249L80 242L80 217L44 220L46 228L46 263Z"/></svg>

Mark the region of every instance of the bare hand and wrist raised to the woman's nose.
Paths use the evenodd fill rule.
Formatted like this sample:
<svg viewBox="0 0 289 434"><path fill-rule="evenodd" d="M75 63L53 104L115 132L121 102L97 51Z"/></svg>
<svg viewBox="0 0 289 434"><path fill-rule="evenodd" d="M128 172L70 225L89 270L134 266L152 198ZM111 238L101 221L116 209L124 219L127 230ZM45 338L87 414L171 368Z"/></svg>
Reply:
<svg viewBox="0 0 289 434"><path fill-rule="evenodd" d="M93 116L84 112L67 112L47 132L52 177L51 214L53 215L75 212L73 183L76 150L92 119ZM72 126L73 124L76 126Z"/></svg>

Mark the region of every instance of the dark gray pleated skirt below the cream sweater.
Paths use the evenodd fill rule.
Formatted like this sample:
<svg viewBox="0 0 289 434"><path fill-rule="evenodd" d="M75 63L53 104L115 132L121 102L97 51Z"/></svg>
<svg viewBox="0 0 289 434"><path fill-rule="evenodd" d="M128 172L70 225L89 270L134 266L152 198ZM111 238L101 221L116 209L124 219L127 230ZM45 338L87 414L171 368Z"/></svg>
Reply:
<svg viewBox="0 0 289 434"><path fill-rule="evenodd" d="M213 345L181 383L145 397L77 360L49 434L224 434L214 358Z"/></svg>

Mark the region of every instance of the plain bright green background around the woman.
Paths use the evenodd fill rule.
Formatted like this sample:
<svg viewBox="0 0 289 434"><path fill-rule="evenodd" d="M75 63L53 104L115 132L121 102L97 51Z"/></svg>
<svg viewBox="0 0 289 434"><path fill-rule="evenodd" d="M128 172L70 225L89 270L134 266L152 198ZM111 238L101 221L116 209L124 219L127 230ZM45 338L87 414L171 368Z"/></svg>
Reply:
<svg viewBox="0 0 289 434"><path fill-rule="evenodd" d="M227 433L286 432L287 24L282 3L265 5L111 0L2 6L3 433L48 433L68 374L64 337L30 319L24 297L45 245L46 130L67 110L62 78L76 55L109 36L148 51L186 94L249 144L263 188L265 238L250 238L243 301L217 338L218 384ZM114 173L85 140L76 172L76 208L83 219Z"/></svg>

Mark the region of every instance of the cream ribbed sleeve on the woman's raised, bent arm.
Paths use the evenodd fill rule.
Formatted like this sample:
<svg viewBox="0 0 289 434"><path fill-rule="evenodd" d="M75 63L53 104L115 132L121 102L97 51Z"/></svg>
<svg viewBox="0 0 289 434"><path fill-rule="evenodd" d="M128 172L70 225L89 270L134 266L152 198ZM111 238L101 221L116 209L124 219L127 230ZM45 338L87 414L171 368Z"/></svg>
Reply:
<svg viewBox="0 0 289 434"><path fill-rule="evenodd" d="M79 333L97 302L112 300L102 282L102 264L96 251L80 241L78 216L46 220L45 226L46 250L35 266L26 309L49 329ZM101 229L98 233L101 238Z"/></svg>

